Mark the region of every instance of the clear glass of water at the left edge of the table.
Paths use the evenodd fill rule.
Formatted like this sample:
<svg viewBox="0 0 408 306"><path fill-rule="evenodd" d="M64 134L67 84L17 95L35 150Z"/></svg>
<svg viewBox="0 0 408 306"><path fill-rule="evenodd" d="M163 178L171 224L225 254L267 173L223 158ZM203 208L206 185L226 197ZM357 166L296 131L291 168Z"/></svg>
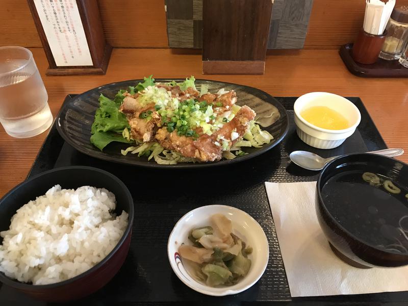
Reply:
<svg viewBox="0 0 408 306"><path fill-rule="evenodd" d="M36 136L53 123L48 95L29 49L0 47L0 122L17 138Z"/></svg>

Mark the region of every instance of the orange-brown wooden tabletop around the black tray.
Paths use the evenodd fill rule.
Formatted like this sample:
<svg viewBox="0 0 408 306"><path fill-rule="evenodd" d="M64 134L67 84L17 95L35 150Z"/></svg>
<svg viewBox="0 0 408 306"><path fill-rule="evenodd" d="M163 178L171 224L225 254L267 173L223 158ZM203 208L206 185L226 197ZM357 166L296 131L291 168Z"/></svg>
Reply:
<svg viewBox="0 0 408 306"><path fill-rule="evenodd" d="M389 147L408 151L408 80L364 79L347 71L337 50L275 50L266 60L265 75L202 75L201 55L170 49L114 49L106 75L46 77L48 66L42 48L34 59L48 92L54 117L68 93L123 80L156 78L211 79L249 85L274 96L299 96L328 91L359 96ZM27 139L8 136L0 127L0 196L27 176L47 133ZM399 157L408 162L408 155Z"/></svg>

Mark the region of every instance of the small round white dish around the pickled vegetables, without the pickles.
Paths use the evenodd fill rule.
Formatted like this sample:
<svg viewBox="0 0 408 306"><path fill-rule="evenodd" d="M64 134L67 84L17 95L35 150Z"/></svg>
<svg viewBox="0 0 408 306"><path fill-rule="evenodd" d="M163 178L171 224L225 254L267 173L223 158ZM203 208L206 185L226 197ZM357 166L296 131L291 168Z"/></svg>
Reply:
<svg viewBox="0 0 408 306"><path fill-rule="evenodd" d="M233 233L253 248L248 256L251 260L248 274L234 286L214 288L196 281L185 270L179 254L182 243L192 244L188 239L192 228L210 225L213 214L224 214L231 219ZM192 210L175 224L168 240L167 253L171 268L184 284L203 294L224 296L242 292L258 282L268 264L269 244L261 225L247 213L230 206L209 205Z"/></svg>

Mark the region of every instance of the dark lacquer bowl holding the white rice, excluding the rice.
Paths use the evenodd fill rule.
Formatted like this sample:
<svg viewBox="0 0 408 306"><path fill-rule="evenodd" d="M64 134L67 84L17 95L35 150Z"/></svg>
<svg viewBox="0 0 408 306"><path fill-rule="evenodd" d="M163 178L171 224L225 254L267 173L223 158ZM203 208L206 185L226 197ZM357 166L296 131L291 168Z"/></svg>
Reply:
<svg viewBox="0 0 408 306"><path fill-rule="evenodd" d="M114 175L92 167L65 167L43 172L16 186L0 200L0 232L6 231L10 226L10 219L17 209L34 200L37 196L44 195L53 186L59 184L63 189L76 189L81 186L105 188L112 192L116 198L116 214L125 211L129 214L128 224L123 236L108 254L91 269L66 281L49 285L32 285L21 283L16 279L7 277L0 272L0 281L16 288L34 298L61 302L79 299L87 296L105 286L122 266L132 236L134 207L129 189ZM0 243L3 238L0 237Z"/></svg>

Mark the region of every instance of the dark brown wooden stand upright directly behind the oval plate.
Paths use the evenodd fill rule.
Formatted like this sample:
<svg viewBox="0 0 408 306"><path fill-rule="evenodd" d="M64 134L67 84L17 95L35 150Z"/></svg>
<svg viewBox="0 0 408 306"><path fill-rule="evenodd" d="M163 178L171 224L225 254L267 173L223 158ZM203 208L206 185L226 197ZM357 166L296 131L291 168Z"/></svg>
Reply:
<svg viewBox="0 0 408 306"><path fill-rule="evenodd" d="M203 0L202 72L263 74L271 0Z"/></svg>

